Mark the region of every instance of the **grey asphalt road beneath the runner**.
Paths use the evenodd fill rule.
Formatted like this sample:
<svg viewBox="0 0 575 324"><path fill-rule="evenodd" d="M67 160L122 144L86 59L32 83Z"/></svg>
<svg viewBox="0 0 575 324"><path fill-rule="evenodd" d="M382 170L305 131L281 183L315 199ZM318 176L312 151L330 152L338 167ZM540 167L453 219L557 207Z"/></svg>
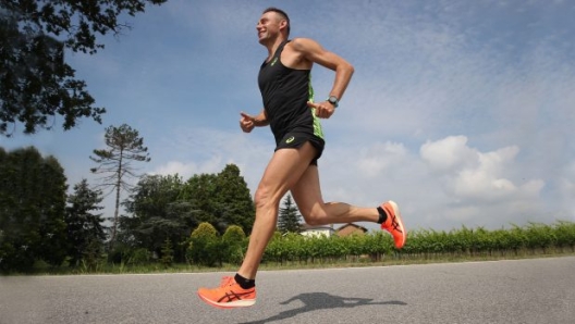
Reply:
<svg viewBox="0 0 575 324"><path fill-rule="evenodd" d="M0 277L0 323L575 323L575 257L260 272L240 310L196 297L222 275Z"/></svg>

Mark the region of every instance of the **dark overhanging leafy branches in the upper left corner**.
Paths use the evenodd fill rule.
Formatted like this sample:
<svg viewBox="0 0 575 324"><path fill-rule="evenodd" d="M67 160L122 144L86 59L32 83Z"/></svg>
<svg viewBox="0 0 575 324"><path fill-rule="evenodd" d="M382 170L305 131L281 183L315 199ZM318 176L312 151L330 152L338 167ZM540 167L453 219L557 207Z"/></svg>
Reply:
<svg viewBox="0 0 575 324"><path fill-rule="evenodd" d="M147 4L167 0L1 0L0 1L0 135L9 125L24 124L24 133L51 128L56 115L68 130L81 117L101 123L103 108L75 78L65 63L65 50L95 54L103 49L97 36L120 35L129 25L118 20L134 16Z"/></svg>

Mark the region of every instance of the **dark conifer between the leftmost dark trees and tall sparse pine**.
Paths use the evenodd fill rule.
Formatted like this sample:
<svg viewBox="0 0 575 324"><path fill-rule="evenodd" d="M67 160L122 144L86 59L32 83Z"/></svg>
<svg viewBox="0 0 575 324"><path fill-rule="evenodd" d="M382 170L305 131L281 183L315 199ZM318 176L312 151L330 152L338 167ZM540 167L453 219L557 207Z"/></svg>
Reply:
<svg viewBox="0 0 575 324"><path fill-rule="evenodd" d="M82 259L95 259L106 240L101 190L91 190L84 178L74 186L74 194L68 197L66 217L70 265L77 265Z"/></svg>

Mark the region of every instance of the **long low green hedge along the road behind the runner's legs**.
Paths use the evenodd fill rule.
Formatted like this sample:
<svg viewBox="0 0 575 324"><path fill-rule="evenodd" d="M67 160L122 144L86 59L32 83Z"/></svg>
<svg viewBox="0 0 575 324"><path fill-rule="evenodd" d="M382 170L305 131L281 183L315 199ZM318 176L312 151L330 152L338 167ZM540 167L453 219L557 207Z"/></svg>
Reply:
<svg viewBox="0 0 575 324"><path fill-rule="evenodd" d="M549 252L575 252L575 223L553 225L529 223L509 229L482 227L411 230L403 249L397 250L390 235L375 232L363 236L304 237L274 235L264 254L265 262L326 263L334 261L382 261L386 259L445 259L515 257Z"/></svg>

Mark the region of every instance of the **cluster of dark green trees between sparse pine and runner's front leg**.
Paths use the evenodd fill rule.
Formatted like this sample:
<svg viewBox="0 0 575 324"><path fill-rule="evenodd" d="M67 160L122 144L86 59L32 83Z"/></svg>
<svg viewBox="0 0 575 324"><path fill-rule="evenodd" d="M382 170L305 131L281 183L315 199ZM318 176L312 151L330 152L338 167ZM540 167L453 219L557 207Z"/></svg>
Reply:
<svg viewBox="0 0 575 324"><path fill-rule="evenodd" d="M218 174L193 175L187 182L178 174L145 175L123 205L126 215L120 217L119 244L132 249L146 248L161 256L163 241L169 237L176 263L199 262L199 252L189 252L187 244L189 234L200 223L210 224L218 235L234 233L233 228L237 227L245 236L255 217L249 189L234 164L225 165ZM230 249L235 249L234 262L238 262L243 250L235 246ZM218 253L213 262L219 264L228 251Z"/></svg>

